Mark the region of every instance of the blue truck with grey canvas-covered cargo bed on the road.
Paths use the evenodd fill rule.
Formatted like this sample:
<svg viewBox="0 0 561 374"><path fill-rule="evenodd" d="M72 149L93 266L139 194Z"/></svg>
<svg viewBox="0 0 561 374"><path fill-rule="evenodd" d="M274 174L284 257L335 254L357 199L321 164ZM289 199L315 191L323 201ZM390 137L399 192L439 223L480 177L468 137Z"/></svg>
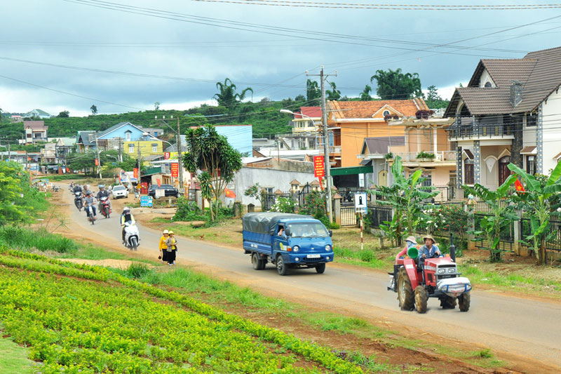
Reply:
<svg viewBox="0 0 561 374"><path fill-rule="evenodd" d="M301 267L323 274L333 261L332 232L310 215L248 213L242 222L243 250L255 270L271 262L280 275Z"/></svg>

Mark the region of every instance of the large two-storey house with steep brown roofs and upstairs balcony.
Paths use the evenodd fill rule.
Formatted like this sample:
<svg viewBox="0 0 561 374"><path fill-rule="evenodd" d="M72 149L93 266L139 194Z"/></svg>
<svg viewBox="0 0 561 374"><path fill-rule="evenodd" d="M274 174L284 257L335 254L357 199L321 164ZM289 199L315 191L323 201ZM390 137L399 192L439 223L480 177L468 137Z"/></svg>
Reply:
<svg viewBox="0 0 561 374"><path fill-rule="evenodd" d="M548 173L561 159L561 47L524 58L480 60L468 86L456 88L445 117L456 149L459 184L499 187L515 163Z"/></svg>

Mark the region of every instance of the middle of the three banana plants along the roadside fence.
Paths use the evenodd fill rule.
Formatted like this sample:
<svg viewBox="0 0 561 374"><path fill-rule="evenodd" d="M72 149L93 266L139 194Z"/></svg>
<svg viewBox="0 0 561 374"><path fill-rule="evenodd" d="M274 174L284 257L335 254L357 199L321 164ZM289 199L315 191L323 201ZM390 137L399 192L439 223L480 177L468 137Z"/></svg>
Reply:
<svg viewBox="0 0 561 374"><path fill-rule="evenodd" d="M510 203L511 186L516 182L515 175L509 175L496 191L492 191L479 183L473 187L464 185L465 194L473 194L479 199L485 201L491 211L490 215L483 215L479 220L480 230L473 232L479 236L478 241L487 240L487 249L489 249L489 260L492 262L501 261L501 232L511 225L511 222L518 220L515 214L515 208Z"/></svg>

